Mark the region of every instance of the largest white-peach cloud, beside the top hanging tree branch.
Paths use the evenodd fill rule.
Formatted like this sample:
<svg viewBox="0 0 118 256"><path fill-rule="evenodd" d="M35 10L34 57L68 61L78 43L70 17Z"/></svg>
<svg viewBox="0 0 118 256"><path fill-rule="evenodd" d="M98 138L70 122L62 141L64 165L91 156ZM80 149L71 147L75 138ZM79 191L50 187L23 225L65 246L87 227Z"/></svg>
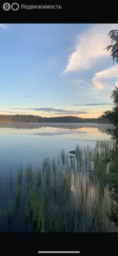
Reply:
<svg viewBox="0 0 118 256"><path fill-rule="evenodd" d="M97 24L78 36L75 51L68 56L68 63L63 73L90 68L99 58L108 57L103 49L110 43L107 36L112 29L118 29L118 24ZM101 85L98 85L102 89Z"/></svg>

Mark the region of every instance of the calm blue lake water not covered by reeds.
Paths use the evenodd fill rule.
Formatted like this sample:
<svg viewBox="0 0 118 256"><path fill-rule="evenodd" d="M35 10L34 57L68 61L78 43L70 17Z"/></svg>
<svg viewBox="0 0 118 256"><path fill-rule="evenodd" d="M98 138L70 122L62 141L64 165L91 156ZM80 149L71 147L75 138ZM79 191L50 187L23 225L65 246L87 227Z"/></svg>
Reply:
<svg viewBox="0 0 118 256"><path fill-rule="evenodd" d="M76 145L95 146L97 140L109 138L106 131L112 128L106 124L87 123L0 123L0 232L26 232L24 209L15 213L12 229L8 228L6 208L8 207L10 172L12 172L12 198L16 197L15 180L18 166L41 166L45 157L58 157L61 149L65 153ZM25 187L23 188L23 191ZM15 202L15 201L14 201ZM13 207L15 209L15 205ZM17 210L15 210L17 212ZM21 221L22 216L22 221ZM28 228L27 232L31 232ZM118 232L111 221L107 232Z"/></svg>

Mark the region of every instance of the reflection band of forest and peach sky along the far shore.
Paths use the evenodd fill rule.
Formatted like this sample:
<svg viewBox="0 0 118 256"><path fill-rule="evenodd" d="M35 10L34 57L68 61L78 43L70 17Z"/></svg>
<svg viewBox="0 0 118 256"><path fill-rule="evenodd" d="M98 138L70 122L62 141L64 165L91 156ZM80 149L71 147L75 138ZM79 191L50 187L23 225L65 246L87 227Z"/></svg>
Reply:
<svg viewBox="0 0 118 256"><path fill-rule="evenodd" d="M36 136L60 136L65 139L83 140L95 142L109 135L106 124L68 124L68 123L0 123L1 135L36 135Z"/></svg>

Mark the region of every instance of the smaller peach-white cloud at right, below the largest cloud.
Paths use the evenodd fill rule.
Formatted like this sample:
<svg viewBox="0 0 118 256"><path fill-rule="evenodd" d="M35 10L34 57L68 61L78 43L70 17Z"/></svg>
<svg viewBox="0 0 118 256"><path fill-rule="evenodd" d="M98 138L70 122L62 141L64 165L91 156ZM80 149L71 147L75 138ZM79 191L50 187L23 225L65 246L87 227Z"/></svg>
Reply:
<svg viewBox="0 0 118 256"><path fill-rule="evenodd" d="M100 82L101 79L118 77L118 65L105 69L101 72L95 73L92 83L95 89L103 90L104 84Z"/></svg>

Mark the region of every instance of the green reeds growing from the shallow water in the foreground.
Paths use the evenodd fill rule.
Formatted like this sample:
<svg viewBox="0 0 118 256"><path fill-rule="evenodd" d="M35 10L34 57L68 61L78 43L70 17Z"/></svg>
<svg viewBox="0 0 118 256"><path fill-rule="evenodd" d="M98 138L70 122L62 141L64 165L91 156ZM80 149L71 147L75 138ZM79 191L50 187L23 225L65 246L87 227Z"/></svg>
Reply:
<svg viewBox="0 0 118 256"><path fill-rule="evenodd" d="M76 146L75 158L61 151L58 159L45 159L43 168L24 173L18 169L16 201L25 181L25 216L32 232L106 232L111 201L107 177L112 163L110 140L97 141L94 148ZM10 176L12 186L12 175ZM12 206L9 204L12 219Z"/></svg>

